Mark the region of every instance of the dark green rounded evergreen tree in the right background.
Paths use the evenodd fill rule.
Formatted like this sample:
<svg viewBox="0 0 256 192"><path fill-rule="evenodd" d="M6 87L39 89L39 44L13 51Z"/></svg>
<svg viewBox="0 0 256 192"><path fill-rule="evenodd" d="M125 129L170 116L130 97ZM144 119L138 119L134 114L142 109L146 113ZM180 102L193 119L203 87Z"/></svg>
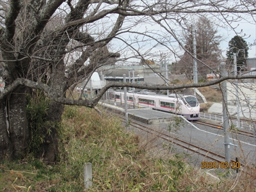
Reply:
<svg viewBox="0 0 256 192"><path fill-rule="evenodd" d="M248 45L241 36L234 36L228 42L227 61L231 65L234 63L234 54L237 55L237 71L243 71L248 58Z"/></svg>

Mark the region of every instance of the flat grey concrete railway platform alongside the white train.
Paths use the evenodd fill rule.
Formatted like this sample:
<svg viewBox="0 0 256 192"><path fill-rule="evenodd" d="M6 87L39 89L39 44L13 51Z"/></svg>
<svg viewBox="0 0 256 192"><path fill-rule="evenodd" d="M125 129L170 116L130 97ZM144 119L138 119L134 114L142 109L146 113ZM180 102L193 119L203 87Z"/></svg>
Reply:
<svg viewBox="0 0 256 192"><path fill-rule="evenodd" d="M116 104L113 100L102 100L99 103L103 108L108 108L113 111L118 111L118 113L122 113L124 115L124 103L120 103L116 101ZM162 111L157 111L152 108L138 107L132 104L127 104L127 113L128 118L133 120L138 120L145 124L160 124L162 122L170 122L173 120L174 115L172 113L165 113Z"/></svg>

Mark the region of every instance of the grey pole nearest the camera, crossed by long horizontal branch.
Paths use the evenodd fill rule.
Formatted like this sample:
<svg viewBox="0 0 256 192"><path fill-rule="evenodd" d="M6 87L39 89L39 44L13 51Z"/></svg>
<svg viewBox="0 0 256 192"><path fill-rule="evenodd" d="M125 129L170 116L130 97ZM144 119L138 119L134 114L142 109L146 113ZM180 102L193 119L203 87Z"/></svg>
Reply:
<svg viewBox="0 0 256 192"><path fill-rule="evenodd" d="M227 75L227 70L225 68L225 63L220 63L221 76L225 77ZM222 109L223 109L223 128L224 128L224 145L225 145L225 159L230 162L230 141L228 132L228 111L227 111L227 81L221 82L221 92L223 94Z"/></svg>

